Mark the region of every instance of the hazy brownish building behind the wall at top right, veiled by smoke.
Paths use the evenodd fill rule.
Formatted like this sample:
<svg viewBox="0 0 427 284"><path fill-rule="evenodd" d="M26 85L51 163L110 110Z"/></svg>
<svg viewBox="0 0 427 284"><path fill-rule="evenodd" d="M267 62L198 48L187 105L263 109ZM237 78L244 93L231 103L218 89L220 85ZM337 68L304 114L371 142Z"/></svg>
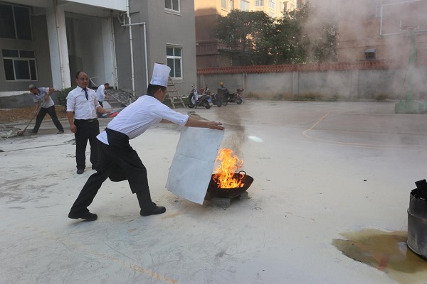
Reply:
<svg viewBox="0 0 427 284"><path fill-rule="evenodd" d="M318 0L317 0L318 1ZM427 0L340 0L338 61L393 60L427 65Z"/></svg>

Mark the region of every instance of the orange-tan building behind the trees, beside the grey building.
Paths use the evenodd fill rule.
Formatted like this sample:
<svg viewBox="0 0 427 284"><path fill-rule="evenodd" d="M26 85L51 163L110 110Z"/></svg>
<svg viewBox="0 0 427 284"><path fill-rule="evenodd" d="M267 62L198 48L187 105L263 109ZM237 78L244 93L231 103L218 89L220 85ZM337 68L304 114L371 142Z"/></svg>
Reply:
<svg viewBox="0 0 427 284"><path fill-rule="evenodd" d="M218 50L228 48L215 39L213 28L218 16L227 16L233 9L241 11L264 11L273 18L283 16L283 11L295 10L305 0L194 0L196 15L196 57L197 67L231 66L228 56Z"/></svg>

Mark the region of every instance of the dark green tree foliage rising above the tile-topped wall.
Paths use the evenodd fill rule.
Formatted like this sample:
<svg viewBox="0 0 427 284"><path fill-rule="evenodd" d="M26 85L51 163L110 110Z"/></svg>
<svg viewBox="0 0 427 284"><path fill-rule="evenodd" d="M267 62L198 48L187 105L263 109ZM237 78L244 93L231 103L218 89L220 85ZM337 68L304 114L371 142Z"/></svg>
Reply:
<svg viewBox="0 0 427 284"><path fill-rule="evenodd" d="M319 19L322 18L322 21ZM216 38L228 48L233 65L270 65L335 61L337 25L313 10L301 9L271 18L263 11L233 10L218 16Z"/></svg>

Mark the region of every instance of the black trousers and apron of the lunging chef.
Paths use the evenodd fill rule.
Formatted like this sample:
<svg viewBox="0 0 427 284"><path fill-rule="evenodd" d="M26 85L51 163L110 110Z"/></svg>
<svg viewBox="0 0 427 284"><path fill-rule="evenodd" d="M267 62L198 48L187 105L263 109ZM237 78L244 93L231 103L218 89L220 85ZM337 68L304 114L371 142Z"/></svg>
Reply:
<svg viewBox="0 0 427 284"><path fill-rule="evenodd" d="M137 194L139 207L149 211L156 204L152 202L149 193L147 169L137 152L130 146L129 138L125 134L110 129L106 131L110 145L98 141L97 173L89 177L71 207L70 213L87 212L102 182L117 171L125 175L121 180L127 179L130 190Z"/></svg>

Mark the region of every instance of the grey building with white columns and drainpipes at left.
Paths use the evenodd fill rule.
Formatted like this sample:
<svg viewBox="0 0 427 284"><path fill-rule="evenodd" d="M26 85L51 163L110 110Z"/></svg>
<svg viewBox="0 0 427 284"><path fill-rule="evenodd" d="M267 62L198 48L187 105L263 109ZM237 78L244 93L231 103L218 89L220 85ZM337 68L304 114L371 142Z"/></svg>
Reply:
<svg viewBox="0 0 427 284"><path fill-rule="evenodd" d="M196 80L191 0L10 0L0 18L0 98L70 87L78 70L139 96L154 62L172 68L179 92Z"/></svg>

